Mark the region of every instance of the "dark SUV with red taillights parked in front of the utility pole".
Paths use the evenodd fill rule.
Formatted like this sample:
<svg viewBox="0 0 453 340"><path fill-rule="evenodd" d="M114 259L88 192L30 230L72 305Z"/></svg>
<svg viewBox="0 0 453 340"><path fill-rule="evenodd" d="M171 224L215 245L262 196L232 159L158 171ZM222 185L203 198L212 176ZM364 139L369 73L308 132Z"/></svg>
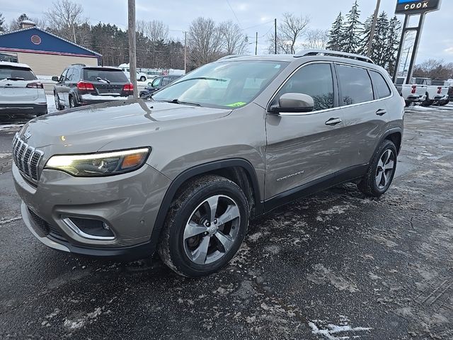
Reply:
<svg viewBox="0 0 453 340"><path fill-rule="evenodd" d="M132 95L133 86L124 72L117 67L91 67L72 64L54 86L57 110L75 108L107 101L124 100Z"/></svg>

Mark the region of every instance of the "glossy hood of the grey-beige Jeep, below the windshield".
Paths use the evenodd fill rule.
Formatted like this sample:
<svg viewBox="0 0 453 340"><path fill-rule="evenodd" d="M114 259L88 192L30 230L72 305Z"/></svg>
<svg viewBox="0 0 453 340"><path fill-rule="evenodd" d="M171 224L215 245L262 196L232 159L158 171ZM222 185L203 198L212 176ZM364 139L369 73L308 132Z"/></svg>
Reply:
<svg viewBox="0 0 453 340"><path fill-rule="evenodd" d="M28 145L47 154L97 152L109 143L127 140L130 145L134 137L144 140L151 133L177 130L229 113L231 110L219 108L127 100L50 113L30 120L20 135Z"/></svg>

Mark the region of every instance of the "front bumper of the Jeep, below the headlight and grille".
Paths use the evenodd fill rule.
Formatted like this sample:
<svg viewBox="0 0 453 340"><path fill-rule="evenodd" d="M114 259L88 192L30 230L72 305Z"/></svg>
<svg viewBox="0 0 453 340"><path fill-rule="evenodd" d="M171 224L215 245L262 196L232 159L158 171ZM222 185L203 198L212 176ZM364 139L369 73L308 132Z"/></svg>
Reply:
<svg viewBox="0 0 453 340"><path fill-rule="evenodd" d="M154 253L151 232L170 183L151 166L145 164L129 174L96 178L78 178L45 169L38 186L33 186L13 164L13 179L23 200L25 225L50 248L125 259ZM86 238L67 225L66 217L101 220L114 237Z"/></svg>

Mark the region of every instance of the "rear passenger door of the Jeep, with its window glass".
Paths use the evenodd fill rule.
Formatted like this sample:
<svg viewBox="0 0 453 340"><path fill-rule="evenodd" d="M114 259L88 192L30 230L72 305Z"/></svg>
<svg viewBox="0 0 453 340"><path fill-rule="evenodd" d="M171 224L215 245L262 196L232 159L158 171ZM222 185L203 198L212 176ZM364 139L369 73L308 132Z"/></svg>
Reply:
<svg viewBox="0 0 453 340"><path fill-rule="evenodd" d="M348 166L364 165L371 160L390 120L384 99L391 96L391 91L379 72L350 64L335 67L345 132L350 147L355 149L349 152L355 157L348 159Z"/></svg>

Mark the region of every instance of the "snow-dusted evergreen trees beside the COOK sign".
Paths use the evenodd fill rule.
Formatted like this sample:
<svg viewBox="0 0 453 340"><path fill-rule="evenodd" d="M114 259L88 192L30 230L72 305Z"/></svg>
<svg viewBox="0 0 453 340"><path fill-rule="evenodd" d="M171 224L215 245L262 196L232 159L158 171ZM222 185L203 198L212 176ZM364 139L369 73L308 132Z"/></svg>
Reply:
<svg viewBox="0 0 453 340"><path fill-rule="evenodd" d="M360 21L360 9L356 0L345 16L340 12L336 21L333 22L329 31L327 49L367 55L373 18L374 14L369 16L365 23ZM370 57L376 64L384 67L389 74L393 74L396 67L400 38L401 22L398 18L394 16L389 19L386 12L380 13L377 17Z"/></svg>

